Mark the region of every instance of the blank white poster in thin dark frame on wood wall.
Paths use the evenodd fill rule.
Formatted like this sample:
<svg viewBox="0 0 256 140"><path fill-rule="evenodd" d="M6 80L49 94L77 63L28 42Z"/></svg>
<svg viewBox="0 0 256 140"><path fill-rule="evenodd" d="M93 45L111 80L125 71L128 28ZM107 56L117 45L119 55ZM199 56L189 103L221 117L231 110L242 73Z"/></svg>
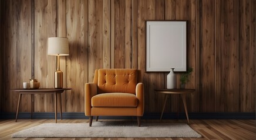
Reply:
<svg viewBox="0 0 256 140"><path fill-rule="evenodd" d="M187 71L187 21L146 21L146 72Z"/></svg>

